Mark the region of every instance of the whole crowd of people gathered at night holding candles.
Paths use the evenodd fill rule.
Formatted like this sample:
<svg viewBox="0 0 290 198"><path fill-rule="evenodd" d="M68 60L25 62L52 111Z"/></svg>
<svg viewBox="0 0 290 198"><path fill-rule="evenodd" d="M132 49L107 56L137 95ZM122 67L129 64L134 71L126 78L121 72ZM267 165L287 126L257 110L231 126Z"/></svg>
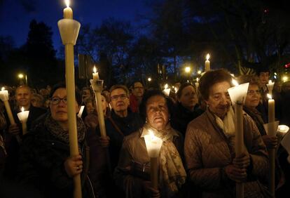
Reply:
<svg viewBox="0 0 290 198"><path fill-rule="evenodd" d="M102 91L106 136L101 136L90 87L76 88L79 154L69 152L67 91L64 83L39 91L8 88L16 124L0 102L0 197L73 197L81 176L83 197L271 197L268 150L275 149L276 197L289 192L288 153L282 134L268 136L269 72L244 75L249 83L243 107L244 149L235 156L235 110L228 94L233 77L226 70L205 72L198 88L179 84L170 95L141 81ZM276 84L276 119L290 124L290 81ZM17 113L29 110L27 133ZM144 136L163 140L158 157L158 188L151 184Z"/></svg>

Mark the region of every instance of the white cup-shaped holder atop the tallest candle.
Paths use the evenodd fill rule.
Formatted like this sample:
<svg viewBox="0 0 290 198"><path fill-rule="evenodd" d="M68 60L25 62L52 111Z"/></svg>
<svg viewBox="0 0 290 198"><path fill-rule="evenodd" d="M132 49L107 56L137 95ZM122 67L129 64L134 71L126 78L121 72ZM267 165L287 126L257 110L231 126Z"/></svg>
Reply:
<svg viewBox="0 0 290 198"><path fill-rule="evenodd" d="M62 44L76 45L78 32L80 31L81 23L73 19L62 19L57 22L58 29L60 29L60 37L62 37Z"/></svg>

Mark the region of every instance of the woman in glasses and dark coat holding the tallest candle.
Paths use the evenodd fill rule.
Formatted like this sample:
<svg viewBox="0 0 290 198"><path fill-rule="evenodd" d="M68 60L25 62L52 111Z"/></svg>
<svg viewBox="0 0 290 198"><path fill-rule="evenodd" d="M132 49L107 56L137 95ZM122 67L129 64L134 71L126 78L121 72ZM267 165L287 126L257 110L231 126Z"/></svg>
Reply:
<svg viewBox="0 0 290 198"><path fill-rule="evenodd" d="M81 94L76 92L76 110ZM50 92L50 112L27 133L20 149L19 178L31 197L72 197L73 177L81 174L83 197L91 197L88 187L88 149L85 146L85 124L77 118L79 153L69 154L69 124L65 84L57 84Z"/></svg>

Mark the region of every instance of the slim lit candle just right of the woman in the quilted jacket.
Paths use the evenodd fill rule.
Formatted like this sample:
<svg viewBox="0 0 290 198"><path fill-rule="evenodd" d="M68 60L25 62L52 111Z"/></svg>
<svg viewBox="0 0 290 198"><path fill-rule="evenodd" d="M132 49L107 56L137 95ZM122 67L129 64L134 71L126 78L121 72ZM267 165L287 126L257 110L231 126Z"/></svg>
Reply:
<svg viewBox="0 0 290 198"><path fill-rule="evenodd" d="M268 100L268 134L269 136L276 136L275 130L275 100L272 99L272 95L267 94ZM270 149L269 161L270 161L270 192L275 197L275 149Z"/></svg>

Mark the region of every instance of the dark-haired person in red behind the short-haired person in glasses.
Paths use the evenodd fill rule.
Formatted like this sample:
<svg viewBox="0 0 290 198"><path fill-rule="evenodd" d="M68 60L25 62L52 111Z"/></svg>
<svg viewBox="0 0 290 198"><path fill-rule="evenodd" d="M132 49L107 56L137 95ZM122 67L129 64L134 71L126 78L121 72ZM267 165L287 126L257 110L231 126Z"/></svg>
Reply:
<svg viewBox="0 0 290 198"><path fill-rule="evenodd" d="M144 86L140 81L132 84L132 93L130 95L130 109L132 112L139 112L139 105L144 95Z"/></svg>

